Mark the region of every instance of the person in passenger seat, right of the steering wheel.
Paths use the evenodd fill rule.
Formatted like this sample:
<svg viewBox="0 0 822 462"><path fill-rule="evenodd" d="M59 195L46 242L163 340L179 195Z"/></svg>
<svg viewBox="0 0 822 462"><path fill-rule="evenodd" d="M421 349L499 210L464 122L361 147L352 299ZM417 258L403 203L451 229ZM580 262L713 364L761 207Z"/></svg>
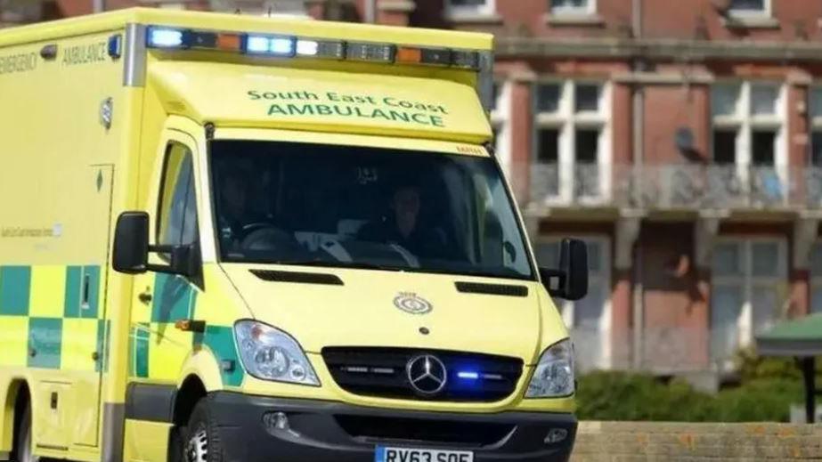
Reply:
<svg viewBox="0 0 822 462"><path fill-rule="evenodd" d="M371 242L397 244L417 256L442 258L446 248L444 232L420 225L422 207L416 184L398 185L391 197L390 216L366 224L358 237Z"/></svg>

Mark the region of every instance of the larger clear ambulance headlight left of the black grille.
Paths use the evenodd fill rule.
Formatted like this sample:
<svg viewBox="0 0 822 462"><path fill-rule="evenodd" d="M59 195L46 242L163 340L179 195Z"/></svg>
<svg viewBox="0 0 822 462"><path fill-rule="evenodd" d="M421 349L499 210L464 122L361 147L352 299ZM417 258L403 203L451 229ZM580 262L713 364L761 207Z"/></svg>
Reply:
<svg viewBox="0 0 822 462"><path fill-rule="evenodd" d="M311 362L297 340L253 320L234 325L242 365L254 377L290 384L320 386Z"/></svg>

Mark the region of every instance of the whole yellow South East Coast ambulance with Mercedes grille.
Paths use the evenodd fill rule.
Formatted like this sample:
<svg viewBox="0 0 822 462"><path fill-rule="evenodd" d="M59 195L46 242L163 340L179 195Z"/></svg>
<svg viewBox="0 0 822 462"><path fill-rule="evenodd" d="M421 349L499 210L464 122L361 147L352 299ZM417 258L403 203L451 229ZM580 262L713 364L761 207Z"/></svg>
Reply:
<svg viewBox="0 0 822 462"><path fill-rule="evenodd" d="M566 460L492 36L132 9L0 32L0 460Z"/></svg>

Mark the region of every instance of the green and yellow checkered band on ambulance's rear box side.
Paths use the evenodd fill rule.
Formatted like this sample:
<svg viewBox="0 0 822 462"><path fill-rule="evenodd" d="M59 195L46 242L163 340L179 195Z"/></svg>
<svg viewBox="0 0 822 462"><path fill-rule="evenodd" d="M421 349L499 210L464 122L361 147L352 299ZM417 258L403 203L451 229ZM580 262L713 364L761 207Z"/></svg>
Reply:
<svg viewBox="0 0 822 462"><path fill-rule="evenodd" d="M0 366L106 369L99 265L0 266Z"/></svg>

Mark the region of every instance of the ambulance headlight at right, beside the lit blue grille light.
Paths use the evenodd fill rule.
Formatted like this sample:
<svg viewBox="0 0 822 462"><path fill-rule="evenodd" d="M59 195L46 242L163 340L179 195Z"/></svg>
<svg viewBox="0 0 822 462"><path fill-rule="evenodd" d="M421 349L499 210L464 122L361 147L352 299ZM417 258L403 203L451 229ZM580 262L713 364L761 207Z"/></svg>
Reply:
<svg viewBox="0 0 822 462"><path fill-rule="evenodd" d="M558 398L574 394L574 345L565 340L542 353L525 398Z"/></svg>

